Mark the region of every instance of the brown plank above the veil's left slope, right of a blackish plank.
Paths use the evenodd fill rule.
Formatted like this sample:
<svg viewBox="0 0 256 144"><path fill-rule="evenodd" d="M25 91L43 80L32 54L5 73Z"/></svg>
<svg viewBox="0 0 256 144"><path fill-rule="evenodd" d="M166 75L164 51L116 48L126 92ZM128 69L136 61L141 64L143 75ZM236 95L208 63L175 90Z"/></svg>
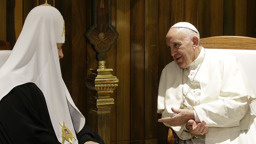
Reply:
<svg viewBox="0 0 256 144"><path fill-rule="evenodd" d="M23 1L15 0L15 8L14 8L14 24L15 24L15 39L17 41L20 32L22 31L23 27L23 16L22 16L22 9L23 9Z"/></svg>

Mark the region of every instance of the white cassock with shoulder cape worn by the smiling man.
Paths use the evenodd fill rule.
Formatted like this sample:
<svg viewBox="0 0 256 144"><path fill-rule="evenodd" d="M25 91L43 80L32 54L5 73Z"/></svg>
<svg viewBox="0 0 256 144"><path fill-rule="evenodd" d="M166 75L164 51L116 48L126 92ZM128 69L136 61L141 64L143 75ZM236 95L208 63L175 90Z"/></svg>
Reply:
<svg viewBox="0 0 256 144"><path fill-rule="evenodd" d="M204 53L202 47L198 58L184 69L185 95ZM174 115L172 107L183 109L182 77L182 68L175 61L162 71L157 102L157 112L162 113L162 118ZM208 132L194 135L186 130L186 124L176 127L164 124L176 132L181 143L254 143L256 116L251 113L249 104L255 100L255 92L236 57L206 52L184 103L195 110L200 121L207 123Z"/></svg>

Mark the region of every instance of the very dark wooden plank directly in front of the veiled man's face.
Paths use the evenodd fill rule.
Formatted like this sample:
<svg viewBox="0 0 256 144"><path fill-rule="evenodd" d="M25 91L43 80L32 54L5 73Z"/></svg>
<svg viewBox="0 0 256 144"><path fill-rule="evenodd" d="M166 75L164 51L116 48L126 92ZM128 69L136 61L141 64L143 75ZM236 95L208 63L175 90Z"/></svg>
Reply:
<svg viewBox="0 0 256 144"><path fill-rule="evenodd" d="M56 0L55 3L65 20L65 44L62 45L64 57L60 59L60 67L63 80L72 96L72 5L71 0Z"/></svg>

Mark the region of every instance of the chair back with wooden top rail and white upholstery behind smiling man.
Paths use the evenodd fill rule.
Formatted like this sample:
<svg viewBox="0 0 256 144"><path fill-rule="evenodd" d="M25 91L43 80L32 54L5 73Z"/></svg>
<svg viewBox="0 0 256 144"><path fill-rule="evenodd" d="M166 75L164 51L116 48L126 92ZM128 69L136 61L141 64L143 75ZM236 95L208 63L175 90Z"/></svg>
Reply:
<svg viewBox="0 0 256 144"><path fill-rule="evenodd" d="M242 64L254 91L256 92L256 38L238 36L218 36L201 39L205 51L227 53L236 56ZM256 102L251 103L256 114Z"/></svg>

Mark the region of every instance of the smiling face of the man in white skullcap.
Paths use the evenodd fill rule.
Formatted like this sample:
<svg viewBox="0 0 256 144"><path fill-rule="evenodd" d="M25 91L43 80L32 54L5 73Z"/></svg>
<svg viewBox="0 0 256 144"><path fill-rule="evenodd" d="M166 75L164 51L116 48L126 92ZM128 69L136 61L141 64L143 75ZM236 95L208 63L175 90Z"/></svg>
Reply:
<svg viewBox="0 0 256 144"><path fill-rule="evenodd" d="M193 41L179 32L179 29L174 27L168 31L166 45L178 66L187 68L196 59Z"/></svg>

